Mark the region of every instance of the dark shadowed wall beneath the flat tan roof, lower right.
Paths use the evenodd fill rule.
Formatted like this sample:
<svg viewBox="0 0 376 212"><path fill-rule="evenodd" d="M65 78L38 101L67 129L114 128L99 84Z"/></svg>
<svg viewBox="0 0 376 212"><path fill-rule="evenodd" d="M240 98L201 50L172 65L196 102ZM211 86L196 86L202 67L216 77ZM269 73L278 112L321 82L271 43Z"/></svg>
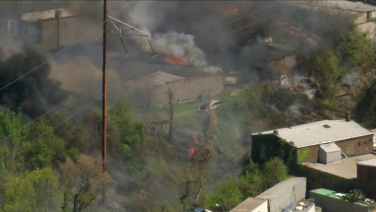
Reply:
<svg viewBox="0 0 376 212"><path fill-rule="evenodd" d="M308 190L327 188L348 193L351 189L356 188L356 179L341 178L304 165L303 172L307 177Z"/></svg>

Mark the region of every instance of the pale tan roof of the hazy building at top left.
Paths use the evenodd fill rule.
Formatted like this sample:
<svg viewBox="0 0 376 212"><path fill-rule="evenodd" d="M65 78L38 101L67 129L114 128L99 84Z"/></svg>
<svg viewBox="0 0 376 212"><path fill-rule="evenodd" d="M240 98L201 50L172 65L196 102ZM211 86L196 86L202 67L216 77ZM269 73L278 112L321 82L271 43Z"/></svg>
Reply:
<svg viewBox="0 0 376 212"><path fill-rule="evenodd" d="M78 11L71 9L71 8L66 8L66 9L61 8L61 9L56 9L56 10L62 11L62 18L78 15ZM55 18L56 10L54 9L54 10L45 10L45 11L40 11L40 12L24 13L21 15L21 20L33 22L33 21L38 21L38 20L53 19Z"/></svg>

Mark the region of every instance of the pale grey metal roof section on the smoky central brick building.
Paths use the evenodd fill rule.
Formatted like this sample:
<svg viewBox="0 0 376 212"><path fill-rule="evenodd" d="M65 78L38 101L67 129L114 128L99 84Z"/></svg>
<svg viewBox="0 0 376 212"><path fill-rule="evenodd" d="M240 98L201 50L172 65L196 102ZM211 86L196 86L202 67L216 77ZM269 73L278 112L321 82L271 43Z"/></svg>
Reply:
<svg viewBox="0 0 376 212"><path fill-rule="evenodd" d="M150 74L145 77L141 77L139 79L126 81L125 84L131 87L151 88L153 86L166 84L169 81L175 81L178 79L185 78L157 71L156 73Z"/></svg>

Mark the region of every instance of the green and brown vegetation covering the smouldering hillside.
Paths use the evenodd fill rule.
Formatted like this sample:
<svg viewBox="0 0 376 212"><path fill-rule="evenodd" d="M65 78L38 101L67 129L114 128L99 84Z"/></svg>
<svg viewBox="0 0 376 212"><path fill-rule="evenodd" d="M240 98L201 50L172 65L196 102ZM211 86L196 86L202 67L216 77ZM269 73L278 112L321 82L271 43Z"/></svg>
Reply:
<svg viewBox="0 0 376 212"><path fill-rule="evenodd" d="M111 163L113 176L103 172L97 156L102 136L99 108L85 113L82 119L60 111L31 122L27 118L30 114L17 106L0 106L1 211L113 211L92 206L106 187L122 180L126 183L116 185L117 192L129 197L132 205L127 207L132 211L188 211L192 204L231 210L247 197L294 174L286 166L293 162L283 162L291 158L292 151L285 147L262 165L245 155L239 175L233 173L227 182L209 190L216 159L239 159L239 152L249 152L242 144L249 148L251 132L342 117L348 109L362 125L376 128L376 54L371 41L346 27L337 27L328 37L333 39L328 41L332 45L305 55L302 65L319 84L322 95L318 98L309 99L305 94L260 81L244 85L234 95L226 90L215 97L226 99L226 103L209 113L196 112L200 102L175 107L170 101L170 131L166 137L146 135L145 123L134 121L129 105L119 101L108 112L108 155L115 161ZM339 107L336 89L353 72L361 95L354 94L354 108ZM294 109L295 105L300 107ZM157 112L166 112L164 109ZM292 110L299 115L293 116ZM184 137L180 142L175 131L187 126L199 132L197 141ZM293 159L299 162L307 154L297 152ZM144 190L151 187L158 190ZM165 201L156 203L160 196ZM119 205L117 209L122 207Z"/></svg>

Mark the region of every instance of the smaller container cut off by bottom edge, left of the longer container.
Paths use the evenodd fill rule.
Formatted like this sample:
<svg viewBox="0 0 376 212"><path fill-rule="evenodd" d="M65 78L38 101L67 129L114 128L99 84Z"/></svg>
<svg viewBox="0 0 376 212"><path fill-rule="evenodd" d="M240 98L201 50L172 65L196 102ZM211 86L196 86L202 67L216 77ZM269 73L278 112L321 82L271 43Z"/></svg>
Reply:
<svg viewBox="0 0 376 212"><path fill-rule="evenodd" d="M249 197L230 212L268 212L268 200Z"/></svg>

